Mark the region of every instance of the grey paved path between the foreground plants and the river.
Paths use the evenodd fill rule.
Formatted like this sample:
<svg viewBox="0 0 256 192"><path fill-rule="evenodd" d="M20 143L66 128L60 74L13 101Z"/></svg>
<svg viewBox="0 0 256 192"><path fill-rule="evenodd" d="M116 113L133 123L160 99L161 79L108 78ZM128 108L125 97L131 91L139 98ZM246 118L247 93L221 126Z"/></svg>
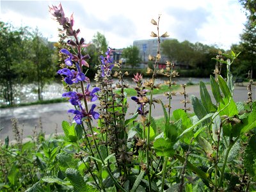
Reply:
<svg viewBox="0 0 256 192"><path fill-rule="evenodd" d="M207 88L211 90L209 84L207 84ZM180 103L184 97L183 95L179 94L179 91L182 91L182 88L179 88L177 91L177 96L173 97L172 99L172 111L175 109L183 108L184 104ZM190 95L196 95L199 97L199 86L193 85L188 86L186 88L186 92ZM211 93L211 91L209 91ZM234 90L234 100L237 101L244 101L247 99L246 86L236 86ZM255 93L256 89L253 88L253 99L255 100ZM155 98L163 100L163 103L168 103L168 100L164 95L155 95ZM213 100L212 100L213 101ZM128 99L129 102L129 109L128 113L133 113L136 105L133 100ZM96 102L97 104L97 102ZM191 107L191 104L188 105ZM0 118L0 140L4 140L8 135L10 140L13 140L13 133L12 133L12 118L17 118L19 120L19 127L24 127L24 136L33 134L33 129L35 126L38 127L39 118L42 120L42 127L45 134L52 134L54 133L54 129L58 127L58 132L63 132L61 129L61 122L63 120L67 120L70 122L72 120L72 116L68 116L70 114L67 113L68 109L71 109L72 106L68 102L57 103L57 104L44 104L44 105L35 105L35 106L26 106L26 107L19 107L19 108L8 108L8 109L1 109L1 118ZM192 107L191 107L192 108ZM163 109L161 108L160 104L156 104L156 108L152 110L152 116L154 118L159 118L163 116Z"/></svg>

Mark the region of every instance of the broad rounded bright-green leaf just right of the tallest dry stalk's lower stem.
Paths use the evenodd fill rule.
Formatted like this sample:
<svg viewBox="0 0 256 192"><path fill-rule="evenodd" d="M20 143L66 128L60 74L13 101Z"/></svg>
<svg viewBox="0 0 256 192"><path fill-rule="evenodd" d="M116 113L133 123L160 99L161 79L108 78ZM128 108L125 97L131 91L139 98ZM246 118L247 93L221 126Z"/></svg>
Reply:
<svg viewBox="0 0 256 192"><path fill-rule="evenodd" d="M169 139L158 138L154 141L153 147L157 156L171 157L174 154L172 141Z"/></svg>

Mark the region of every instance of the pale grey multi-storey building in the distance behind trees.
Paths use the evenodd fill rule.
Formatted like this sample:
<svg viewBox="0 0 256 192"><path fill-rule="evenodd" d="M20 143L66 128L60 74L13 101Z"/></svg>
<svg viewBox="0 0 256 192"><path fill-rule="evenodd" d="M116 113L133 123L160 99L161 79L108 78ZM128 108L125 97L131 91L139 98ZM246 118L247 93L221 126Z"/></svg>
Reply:
<svg viewBox="0 0 256 192"><path fill-rule="evenodd" d="M164 42L164 40L172 40L172 38L160 37L160 43ZM133 46L138 47L138 49L140 50L141 62L147 65L148 55L156 57L157 48L158 48L158 39L152 38L147 40L136 40L133 42ZM166 61L168 61L168 57L161 54L161 59L159 61L159 68L165 67Z"/></svg>

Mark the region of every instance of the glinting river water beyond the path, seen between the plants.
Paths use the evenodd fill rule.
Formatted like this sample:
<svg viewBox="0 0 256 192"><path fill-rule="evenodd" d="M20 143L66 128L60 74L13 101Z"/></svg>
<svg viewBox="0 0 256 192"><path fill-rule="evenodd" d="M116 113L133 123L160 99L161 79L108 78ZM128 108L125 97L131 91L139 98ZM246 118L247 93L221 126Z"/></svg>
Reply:
<svg viewBox="0 0 256 192"><path fill-rule="evenodd" d="M149 78L145 78L144 80L147 80ZM164 80L168 80L167 78L161 77L156 79L156 84L163 83ZM173 78L174 81L177 82L177 84L184 84L184 83L194 83L197 84L200 81L203 81L204 83L209 82L209 78L195 78L195 77L175 77ZM113 80L114 83L117 83L117 79ZM92 82L94 84L95 82ZM113 84L114 84L113 83ZM125 78L125 83L134 84L132 81L131 77L126 77ZM15 86L15 97L14 97L14 102L15 104L20 104L20 103L28 103L28 102L36 102L38 100L38 94L36 90L37 86L35 84L24 84L20 85L17 84ZM49 99L58 99L61 98L61 95L63 92L65 92L63 85L60 83L52 83L52 84L47 84L44 87L44 92L42 93L43 99L44 100L49 100ZM0 98L0 104L6 104L5 100L3 98Z"/></svg>

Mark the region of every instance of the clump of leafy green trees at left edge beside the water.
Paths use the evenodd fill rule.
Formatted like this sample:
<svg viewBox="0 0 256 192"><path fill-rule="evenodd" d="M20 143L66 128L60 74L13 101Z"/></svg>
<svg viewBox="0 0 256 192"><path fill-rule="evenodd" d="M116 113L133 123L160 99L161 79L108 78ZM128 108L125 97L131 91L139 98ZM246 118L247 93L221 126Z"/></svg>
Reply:
<svg viewBox="0 0 256 192"><path fill-rule="evenodd" d="M38 30L30 33L27 27L0 22L0 93L7 104L14 104L15 86L25 83L36 83L42 100L44 85L56 74L52 52Z"/></svg>

